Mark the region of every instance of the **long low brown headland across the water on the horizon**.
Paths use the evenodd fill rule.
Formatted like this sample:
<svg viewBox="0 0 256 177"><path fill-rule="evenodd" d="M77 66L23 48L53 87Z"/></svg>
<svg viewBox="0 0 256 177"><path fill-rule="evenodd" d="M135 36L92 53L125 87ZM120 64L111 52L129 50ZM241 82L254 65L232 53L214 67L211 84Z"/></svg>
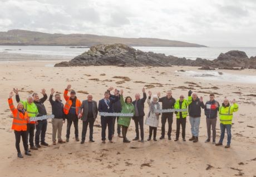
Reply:
<svg viewBox="0 0 256 177"><path fill-rule="evenodd" d="M147 47L206 47L205 45L155 38L119 38L92 34L49 34L19 29L0 32L0 45L92 46L115 43Z"/></svg>

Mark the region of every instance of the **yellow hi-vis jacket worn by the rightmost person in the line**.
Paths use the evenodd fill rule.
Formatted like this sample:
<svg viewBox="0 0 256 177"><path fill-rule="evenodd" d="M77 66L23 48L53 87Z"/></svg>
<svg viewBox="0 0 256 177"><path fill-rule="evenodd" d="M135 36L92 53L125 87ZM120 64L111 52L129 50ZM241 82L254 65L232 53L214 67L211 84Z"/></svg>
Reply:
<svg viewBox="0 0 256 177"><path fill-rule="evenodd" d="M221 106L219 108L219 118L221 124L232 124L233 112L238 111L238 104L234 103L229 107Z"/></svg>

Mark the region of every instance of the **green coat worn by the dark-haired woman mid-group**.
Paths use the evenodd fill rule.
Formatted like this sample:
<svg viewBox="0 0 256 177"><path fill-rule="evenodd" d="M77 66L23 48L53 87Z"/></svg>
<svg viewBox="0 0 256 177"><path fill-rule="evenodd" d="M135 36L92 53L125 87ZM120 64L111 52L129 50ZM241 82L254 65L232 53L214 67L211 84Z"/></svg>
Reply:
<svg viewBox="0 0 256 177"><path fill-rule="evenodd" d="M134 105L132 103L130 103L130 104L125 103L123 95L120 96L120 102L121 102L121 105L122 105L121 113L124 113L124 114L134 113L135 114ZM118 124L123 125L125 127L129 127L130 122L131 122L131 118L132 117L121 117L120 116L119 119L118 119Z"/></svg>

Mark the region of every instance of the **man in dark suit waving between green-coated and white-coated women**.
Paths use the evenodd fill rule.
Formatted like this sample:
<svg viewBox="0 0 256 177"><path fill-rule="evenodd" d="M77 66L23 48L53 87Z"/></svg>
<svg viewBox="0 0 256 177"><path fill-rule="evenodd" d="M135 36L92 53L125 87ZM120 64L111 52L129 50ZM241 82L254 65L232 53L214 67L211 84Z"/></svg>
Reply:
<svg viewBox="0 0 256 177"><path fill-rule="evenodd" d="M135 94L135 101L132 102L132 104L134 104L135 107L135 115L132 119L134 119L134 123L135 123L135 132L136 132L136 136L133 139L135 140L139 140L139 124L140 124L140 138L141 138L141 142L144 142L144 103L145 100L147 98L147 95L145 93L145 88L142 88L142 93L143 93L143 98L140 99L140 94L136 93Z"/></svg>

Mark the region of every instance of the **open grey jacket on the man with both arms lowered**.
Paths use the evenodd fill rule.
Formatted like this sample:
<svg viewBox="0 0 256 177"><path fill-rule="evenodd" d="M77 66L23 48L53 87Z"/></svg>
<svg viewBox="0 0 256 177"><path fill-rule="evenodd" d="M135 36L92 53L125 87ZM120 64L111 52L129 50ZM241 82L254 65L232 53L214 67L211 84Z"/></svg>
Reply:
<svg viewBox="0 0 256 177"><path fill-rule="evenodd" d="M83 100L81 107L78 110L78 114L79 113L82 114L82 117L81 117L82 121L86 121L88 119L88 100ZM92 100L92 114L95 120L98 115L98 107L97 107L97 102L93 100Z"/></svg>

